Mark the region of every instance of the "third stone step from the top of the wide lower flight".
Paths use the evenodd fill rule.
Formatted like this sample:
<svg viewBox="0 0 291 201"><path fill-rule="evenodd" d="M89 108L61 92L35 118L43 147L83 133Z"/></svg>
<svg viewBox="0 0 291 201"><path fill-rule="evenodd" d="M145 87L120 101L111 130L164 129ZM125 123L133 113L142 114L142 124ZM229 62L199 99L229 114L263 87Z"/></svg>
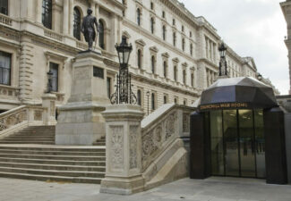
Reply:
<svg viewBox="0 0 291 201"><path fill-rule="evenodd" d="M39 163L39 164L59 164L59 165L88 165L105 166L105 161L72 161L72 160L53 160L53 159L34 159L34 158L6 158L0 157L0 162L7 163Z"/></svg>

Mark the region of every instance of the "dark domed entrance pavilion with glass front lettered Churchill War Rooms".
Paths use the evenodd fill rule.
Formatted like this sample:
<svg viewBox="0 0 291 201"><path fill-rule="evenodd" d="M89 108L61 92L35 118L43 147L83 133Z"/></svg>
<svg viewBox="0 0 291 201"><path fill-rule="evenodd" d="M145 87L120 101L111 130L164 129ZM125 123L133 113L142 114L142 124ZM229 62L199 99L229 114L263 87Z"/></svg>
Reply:
<svg viewBox="0 0 291 201"><path fill-rule="evenodd" d="M284 121L272 88L252 78L217 80L191 115L190 172L287 183Z"/></svg>

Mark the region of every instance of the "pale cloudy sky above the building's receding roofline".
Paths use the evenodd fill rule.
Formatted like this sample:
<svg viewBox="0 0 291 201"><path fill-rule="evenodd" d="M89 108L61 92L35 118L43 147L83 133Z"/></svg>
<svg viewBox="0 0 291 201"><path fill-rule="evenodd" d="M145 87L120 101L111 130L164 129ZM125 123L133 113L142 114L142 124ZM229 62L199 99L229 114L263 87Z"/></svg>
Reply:
<svg viewBox="0 0 291 201"><path fill-rule="evenodd" d="M284 0L179 0L194 16L203 16L240 56L252 56L258 71L287 95L289 72Z"/></svg>

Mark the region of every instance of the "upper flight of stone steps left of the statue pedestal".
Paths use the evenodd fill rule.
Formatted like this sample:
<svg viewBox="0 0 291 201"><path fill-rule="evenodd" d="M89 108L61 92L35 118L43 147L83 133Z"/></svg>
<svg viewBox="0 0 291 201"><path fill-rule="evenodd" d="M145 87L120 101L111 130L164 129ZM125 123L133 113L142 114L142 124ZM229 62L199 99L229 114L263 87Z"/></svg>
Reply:
<svg viewBox="0 0 291 201"><path fill-rule="evenodd" d="M30 126L0 140L0 144L55 145L55 126Z"/></svg>

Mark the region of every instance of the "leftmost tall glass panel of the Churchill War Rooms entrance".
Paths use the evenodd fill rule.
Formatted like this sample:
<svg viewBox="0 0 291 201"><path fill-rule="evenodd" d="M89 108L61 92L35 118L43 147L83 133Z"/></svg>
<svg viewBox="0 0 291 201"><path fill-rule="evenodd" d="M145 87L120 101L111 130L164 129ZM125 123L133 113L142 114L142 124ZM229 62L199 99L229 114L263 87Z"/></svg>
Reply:
<svg viewBox="0 0 291 201"><path fill-rule="evenodd" d="M212 175L224 175L222 112L210 113L210 144Z"/></svg>

